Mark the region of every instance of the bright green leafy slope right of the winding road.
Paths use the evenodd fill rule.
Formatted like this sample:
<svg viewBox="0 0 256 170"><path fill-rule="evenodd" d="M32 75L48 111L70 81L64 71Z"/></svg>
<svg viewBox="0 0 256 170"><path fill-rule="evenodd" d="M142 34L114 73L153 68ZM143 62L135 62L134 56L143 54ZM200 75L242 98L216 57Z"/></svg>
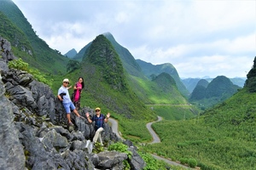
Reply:
<svg viewBox="0 0 256 170"><path fill-rule="evenodd" d="M194 158L201 169L254 169L255 100L256 94L243 89L199 119L154 123L161 143L144 150L172 160Z"/></svg>

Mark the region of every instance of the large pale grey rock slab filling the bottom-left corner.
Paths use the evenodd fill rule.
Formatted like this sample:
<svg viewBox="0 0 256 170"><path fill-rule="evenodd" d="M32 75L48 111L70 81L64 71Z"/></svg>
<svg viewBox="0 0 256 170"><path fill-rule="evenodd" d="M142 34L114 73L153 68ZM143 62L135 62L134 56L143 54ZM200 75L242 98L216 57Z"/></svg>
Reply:
<svg viewBox="0 0 256 170"><path fill-rule="evenodd" d="M12 105L4 96L5 88L0 76L0 167L25 169L25 155L14 124Z"/></svg>

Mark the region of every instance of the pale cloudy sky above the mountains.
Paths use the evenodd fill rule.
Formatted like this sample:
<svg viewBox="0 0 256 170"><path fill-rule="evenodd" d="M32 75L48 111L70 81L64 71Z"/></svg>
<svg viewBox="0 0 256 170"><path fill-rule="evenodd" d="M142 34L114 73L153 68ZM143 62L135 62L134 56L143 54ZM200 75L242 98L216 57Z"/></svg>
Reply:
<svg viewBox="0 0 256 170"><path fill-rule="evenodd" d="M79 51L110 32L135 59L179 77L247 77L256 56L255 0L13 0L50 48Z"/></svg>

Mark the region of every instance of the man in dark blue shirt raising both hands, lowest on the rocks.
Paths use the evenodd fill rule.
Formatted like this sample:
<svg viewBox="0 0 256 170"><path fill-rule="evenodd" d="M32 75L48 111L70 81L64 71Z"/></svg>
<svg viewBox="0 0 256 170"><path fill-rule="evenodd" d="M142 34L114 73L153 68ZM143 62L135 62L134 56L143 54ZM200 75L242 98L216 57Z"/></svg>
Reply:
<svg viewBox="0 0 256 170"><path fill-rule="evenodd" d="M104 130L103 127L104 127L104 123L108 122L108 118L110 117L110 113L107 114L107 116L104 116L102 113L101 113L101 108L99 107L96 107L95 109L96 111L96 115L92 116L91 119L90 119L90 114L87 112L86 113L86 117L87 117L87 120L88 122L95 122L95 135L92 139L92 141L94 143L97 142L97 140L99 139L100 137L100 133ZM102 143L102 141L101 141Z"/></svg>

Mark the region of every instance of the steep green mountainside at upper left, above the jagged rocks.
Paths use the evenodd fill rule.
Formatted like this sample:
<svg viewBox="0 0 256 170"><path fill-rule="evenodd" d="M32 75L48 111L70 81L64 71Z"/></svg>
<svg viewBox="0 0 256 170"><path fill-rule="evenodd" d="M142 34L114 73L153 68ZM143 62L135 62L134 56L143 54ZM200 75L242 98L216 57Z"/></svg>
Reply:
<svg viewBox="0 0 256 170"><path fill-rule="evenodd" d="M25 37L5 37L12 43L16 57L25 60L32 67L45 73L60 74L66 72L69 59L61 55L59 51L49 48L49 45L36 35L36 31L32 29L31 24L15 3L11 0L0 1L0 11L9 19L5 20L6 24L3 26L15 26L16 31L14 32L22 31L25 35ZM11 25L8 24L9 21L12 23ZM2 27L0 35L12 34L8 33L6 29L9 29L9 27ZM24 39L26 39L26 42Z"/></svg>

